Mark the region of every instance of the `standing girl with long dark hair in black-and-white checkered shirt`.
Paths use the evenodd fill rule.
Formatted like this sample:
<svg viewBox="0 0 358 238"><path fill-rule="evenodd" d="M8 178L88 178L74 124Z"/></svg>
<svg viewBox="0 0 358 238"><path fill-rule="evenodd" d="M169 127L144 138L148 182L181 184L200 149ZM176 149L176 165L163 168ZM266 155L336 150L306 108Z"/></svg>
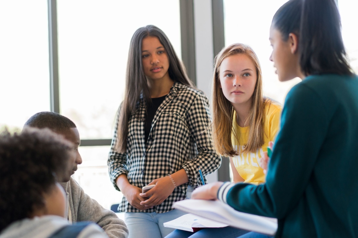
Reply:
<svg viewBox="0 0 358 238"><path fill-rule="evenodd" d="M113 185L124 197L129 237L165 237L163 226L184 213L173 210L221 158L212 147L209 103L195 88L168 37L158 27L139 28L130 43L125 99L108 158ZM155 187L142 193L142 187Z"/></svg>

